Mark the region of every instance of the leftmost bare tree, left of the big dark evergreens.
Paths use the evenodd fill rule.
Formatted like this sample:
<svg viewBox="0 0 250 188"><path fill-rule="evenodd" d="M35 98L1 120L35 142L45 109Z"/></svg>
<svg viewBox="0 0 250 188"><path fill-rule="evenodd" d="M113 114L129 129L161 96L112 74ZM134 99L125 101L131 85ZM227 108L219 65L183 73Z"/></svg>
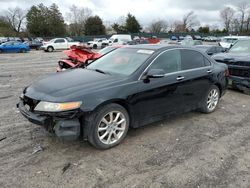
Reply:
<svg viewBox="0 0 250 188"><path fill-rule="evenodd" d="M13 31L20 33L23 29L24 20L26 18L26 11L16 7L14 9L9 8L6 11L5 19L12 27Z"/></svg>

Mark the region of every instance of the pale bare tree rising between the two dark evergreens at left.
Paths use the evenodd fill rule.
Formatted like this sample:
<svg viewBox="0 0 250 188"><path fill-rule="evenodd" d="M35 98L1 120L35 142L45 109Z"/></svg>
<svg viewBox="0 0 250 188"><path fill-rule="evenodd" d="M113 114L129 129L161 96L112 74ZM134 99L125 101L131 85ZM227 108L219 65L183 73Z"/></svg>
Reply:
<svg viewBox="0 0 250 188"><path fill-rule="evenodd" d="M66 14L66 19L70 23L70 34L80 36L85 33L86 20L92 15L89 8L79 8L76 5L70 7L70 12Z"/></svg>

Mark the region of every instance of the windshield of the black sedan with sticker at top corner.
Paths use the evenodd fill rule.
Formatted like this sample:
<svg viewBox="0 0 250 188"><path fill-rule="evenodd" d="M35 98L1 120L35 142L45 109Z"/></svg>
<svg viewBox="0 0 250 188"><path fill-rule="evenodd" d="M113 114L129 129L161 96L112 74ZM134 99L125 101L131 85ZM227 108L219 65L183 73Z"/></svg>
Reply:
<svg viewBox="0 0 250 188"><path fill-rule="evenodd" d="M99 69L105 73L128 76L135 72L153 50L120 48L91 63L87 69Z"/></svg>

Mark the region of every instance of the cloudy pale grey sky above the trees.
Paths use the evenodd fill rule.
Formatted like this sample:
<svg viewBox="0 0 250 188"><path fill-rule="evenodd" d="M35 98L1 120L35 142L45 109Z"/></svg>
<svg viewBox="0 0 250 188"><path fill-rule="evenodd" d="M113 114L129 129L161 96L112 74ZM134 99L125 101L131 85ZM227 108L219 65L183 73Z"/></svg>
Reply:
<svg viewBox="0 0 250 188"><path fill-rule="evenodd" d="M219 12L225 6L236 6L250 0L0 0L0 15L8 8L16 6L29 9L32 5L43 3L46 6L56 3L64 16L71 5L88 7L99 15L106 24L112 24L128 12L138 21L148 26L152 21L164 19L169 22L181 20L183 15L194 11L202 26L222 27ZM65 18L67 22L67 18Z"/></svg>

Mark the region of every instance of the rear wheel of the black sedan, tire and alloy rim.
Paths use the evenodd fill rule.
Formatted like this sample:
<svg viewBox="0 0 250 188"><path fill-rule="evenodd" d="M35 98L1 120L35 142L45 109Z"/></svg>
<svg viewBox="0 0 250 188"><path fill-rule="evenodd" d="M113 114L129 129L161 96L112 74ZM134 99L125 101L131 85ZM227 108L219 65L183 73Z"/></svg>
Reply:
<svg viewBox="0 0 250 188"><path fill-rule="evenodd" d="M208 90L204 100L202 101L202 106L200 111L206 114L215 111L220 100L220 90L216 85L213 85Z"/></svg>

